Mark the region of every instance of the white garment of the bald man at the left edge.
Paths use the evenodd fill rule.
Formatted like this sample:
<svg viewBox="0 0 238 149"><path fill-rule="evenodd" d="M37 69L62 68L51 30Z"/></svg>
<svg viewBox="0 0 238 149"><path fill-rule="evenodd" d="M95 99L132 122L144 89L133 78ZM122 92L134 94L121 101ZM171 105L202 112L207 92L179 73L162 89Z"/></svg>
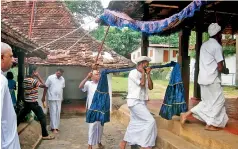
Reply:
<svg viewBox="0 0 238 149"><path fill-rule="evenodd" d="M20 149L17 118L13 108L8 81L1 73L1 143L2 149Z"/></svg>

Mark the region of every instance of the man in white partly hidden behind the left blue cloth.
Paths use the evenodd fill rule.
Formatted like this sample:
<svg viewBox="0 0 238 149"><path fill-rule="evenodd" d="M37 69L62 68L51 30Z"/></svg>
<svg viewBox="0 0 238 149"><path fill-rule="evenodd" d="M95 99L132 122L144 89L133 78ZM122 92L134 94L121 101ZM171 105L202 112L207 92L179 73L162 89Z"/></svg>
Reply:
<svg viewBox="0 0 238 149"><path fill-rule="evenodd" d="M89 79L91 78L91 81ZM83 92L87 92L87 101L86 108L89 109L94 93L98 86L98 81L100 79L100 73L98 70L93 70L88 73L87 77L79 84L79 88L82 89ZM98 145L99 148L103 148L101 143L103 134L103 126L100 121L89 123L88 130L88 149L92 149L92 146Z"/></svg>

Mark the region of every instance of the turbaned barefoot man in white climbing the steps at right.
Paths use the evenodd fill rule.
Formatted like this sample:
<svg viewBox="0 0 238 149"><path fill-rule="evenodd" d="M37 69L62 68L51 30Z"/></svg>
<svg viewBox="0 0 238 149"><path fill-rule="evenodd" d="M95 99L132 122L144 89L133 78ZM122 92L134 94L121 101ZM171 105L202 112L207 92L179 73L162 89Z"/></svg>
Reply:
<svg viewBox="0 0 238 149"><path fill-rule="evenodd" d="M223 67L221 27L212 23L208 27L208 33L210 39L202 44L200 50L198 83L201 87L201 102L181 114L181 123L184 124L187 117L193 115L206 123L206 130L216 131L228 122L221 87L221 73L227 73L227 69Z"/></svg>

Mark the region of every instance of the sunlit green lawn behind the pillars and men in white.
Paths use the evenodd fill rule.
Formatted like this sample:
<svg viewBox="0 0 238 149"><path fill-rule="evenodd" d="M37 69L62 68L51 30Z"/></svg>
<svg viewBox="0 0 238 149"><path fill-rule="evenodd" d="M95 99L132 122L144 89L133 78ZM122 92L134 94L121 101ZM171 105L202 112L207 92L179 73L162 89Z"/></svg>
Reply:
<svg viewBox="0 0 238 149"><path fill-rule="evenodd" d="M168 85L168 81L164 80L153 80L154 89L149 91L150 99L163 99L165 91ZM127 78L124 77L112 77L112 91L113 92L127 92L128 82ZM189 96L193 96L194 84L190 83ZM235 87L223 87L224 94L226 98L236 98L238 97L238 89Z"/></svg>

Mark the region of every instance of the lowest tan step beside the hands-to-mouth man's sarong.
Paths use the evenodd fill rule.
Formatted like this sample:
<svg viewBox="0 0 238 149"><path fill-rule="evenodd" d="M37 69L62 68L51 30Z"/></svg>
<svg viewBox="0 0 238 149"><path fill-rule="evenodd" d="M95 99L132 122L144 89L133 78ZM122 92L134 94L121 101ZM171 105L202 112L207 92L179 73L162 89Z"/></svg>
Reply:
<svg viewBox="0 0 238 149"><path fill-rule="evenodd" d="M159 149L199 149L192 143L165 129L158 130L157 147Z"/></svg>

